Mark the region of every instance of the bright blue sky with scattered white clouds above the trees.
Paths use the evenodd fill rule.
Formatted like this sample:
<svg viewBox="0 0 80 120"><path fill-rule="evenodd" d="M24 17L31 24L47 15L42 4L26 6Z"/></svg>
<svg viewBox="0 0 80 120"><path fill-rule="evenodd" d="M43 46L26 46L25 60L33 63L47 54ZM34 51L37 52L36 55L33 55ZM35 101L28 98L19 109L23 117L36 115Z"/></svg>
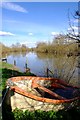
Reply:
<svg viewBox="0 0 80 120"><path fill-rule="evenodd" d="M78 3L0 3L0 18L2 13L0 42L8 46L19 42L26 44L28 47L34 47L37 42L51 41L55 35L66 33L69 29L68 9L71 14L74 14L75 10L78 9ZM72 17L71 21L73 22Z"/></svg>

